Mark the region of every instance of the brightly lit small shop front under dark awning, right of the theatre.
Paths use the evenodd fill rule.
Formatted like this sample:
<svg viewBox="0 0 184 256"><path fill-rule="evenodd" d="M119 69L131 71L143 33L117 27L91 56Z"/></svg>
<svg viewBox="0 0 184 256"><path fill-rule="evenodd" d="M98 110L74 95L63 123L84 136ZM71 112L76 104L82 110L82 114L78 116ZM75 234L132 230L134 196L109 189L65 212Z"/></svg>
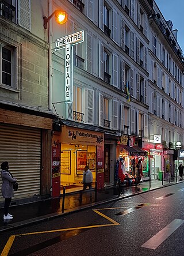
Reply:
<svg viewBox="0 0 184 256"><path fill-rule="evenodd" d="M148 156L147 152L142 149L141 139L133 136L122 135L118 145L118 157L125 157L124 166L127 174L135 175L136 165L141 159L144 178L148 177Z"/></svg>

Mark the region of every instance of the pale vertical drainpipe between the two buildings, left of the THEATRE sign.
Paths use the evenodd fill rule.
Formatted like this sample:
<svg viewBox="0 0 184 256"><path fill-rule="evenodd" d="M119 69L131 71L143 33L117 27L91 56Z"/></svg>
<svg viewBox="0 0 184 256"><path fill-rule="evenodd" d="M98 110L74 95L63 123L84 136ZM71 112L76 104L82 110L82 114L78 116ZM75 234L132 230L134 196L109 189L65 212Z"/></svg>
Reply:
<svg viewBox="0 0 184 256"><path fill-rule="evenodd" d="M49 0L48 12L50 16L52 14L52 0ZM52 110L52 18L49 20L48 42L48 104L49 110Z"/></svg>

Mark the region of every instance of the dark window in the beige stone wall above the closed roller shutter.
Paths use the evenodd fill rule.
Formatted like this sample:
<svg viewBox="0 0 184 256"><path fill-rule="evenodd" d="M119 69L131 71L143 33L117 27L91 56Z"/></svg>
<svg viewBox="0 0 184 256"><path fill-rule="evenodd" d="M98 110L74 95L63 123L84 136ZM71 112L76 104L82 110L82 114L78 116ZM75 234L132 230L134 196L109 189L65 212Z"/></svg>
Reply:
<svg viewBox="0 0 184 256"><path fill-rule="evenodd" d="M0 44L0 84L16 88L15 50L13 47L5 47Z"/></svg>

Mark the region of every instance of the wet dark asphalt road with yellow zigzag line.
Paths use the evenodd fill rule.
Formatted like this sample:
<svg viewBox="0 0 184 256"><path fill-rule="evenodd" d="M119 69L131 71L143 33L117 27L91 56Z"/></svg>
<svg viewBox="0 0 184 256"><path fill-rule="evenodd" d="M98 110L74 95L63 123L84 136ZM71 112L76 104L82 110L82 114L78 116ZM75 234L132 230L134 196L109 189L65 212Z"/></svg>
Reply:
<svg viewBox="0 0 184 256"><path fill-rule="evenodd" d="M156 249L141 246L172 221L178 219L184 223L183 209L184 184L178 183L17 231L3 232L0 251L5 253L3 255L19 256L182 256L184 224L165 239L164 234L160 235L163 242Z"/></svg>

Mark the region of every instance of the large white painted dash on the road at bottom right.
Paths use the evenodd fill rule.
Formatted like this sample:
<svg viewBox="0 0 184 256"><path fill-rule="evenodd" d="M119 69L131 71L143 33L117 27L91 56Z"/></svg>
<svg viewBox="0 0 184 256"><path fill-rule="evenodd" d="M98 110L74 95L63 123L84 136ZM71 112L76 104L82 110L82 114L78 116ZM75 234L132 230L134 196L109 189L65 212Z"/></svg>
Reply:
<svg viewBox="0 0 184 256"><path fill-rule="evenodd" d="M141 247L155 250L161 243L164 242L164 240L168 238L168 236L173 234L173 232L176 231L177 228L179 228L183 223L184 220L173 220L170 224L168 224L166 227L160 230L156 235L154 235L147 242L141 245Z"/></svg>

